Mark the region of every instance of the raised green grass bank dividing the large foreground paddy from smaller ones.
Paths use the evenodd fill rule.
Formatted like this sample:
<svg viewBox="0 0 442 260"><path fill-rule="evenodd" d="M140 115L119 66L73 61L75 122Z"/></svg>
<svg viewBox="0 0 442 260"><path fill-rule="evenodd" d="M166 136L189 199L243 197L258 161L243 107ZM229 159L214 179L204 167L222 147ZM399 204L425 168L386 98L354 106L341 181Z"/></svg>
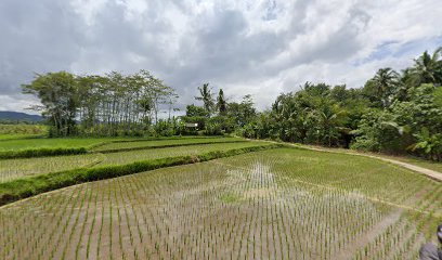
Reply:
<svg viewBox="0 0 442 260"><path fill-rule="evenodd" d="M281 147L280 144L259 145L229 151L216 151L193 156L178 156L154 160L135 161L122 166L79 168L68 171L38 174L0 183L0 206L44 192L90 182L105 180L165 167L188 165L217 158Z"/></svg>

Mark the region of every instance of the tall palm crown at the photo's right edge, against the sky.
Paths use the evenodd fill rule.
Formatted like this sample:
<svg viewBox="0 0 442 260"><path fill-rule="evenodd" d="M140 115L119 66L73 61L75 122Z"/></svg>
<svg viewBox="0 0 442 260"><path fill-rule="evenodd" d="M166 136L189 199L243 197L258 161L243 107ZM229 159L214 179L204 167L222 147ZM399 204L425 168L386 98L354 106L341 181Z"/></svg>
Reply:
<svg viewBox="0 0 442 260"><path fill-rule="evenodd" d="M414 60L415 65L412 68L413 82L415 86L422 83L433 83L440 86L442 83L442 47L438 48L432 55L427 51L418 58Z"/></svg>

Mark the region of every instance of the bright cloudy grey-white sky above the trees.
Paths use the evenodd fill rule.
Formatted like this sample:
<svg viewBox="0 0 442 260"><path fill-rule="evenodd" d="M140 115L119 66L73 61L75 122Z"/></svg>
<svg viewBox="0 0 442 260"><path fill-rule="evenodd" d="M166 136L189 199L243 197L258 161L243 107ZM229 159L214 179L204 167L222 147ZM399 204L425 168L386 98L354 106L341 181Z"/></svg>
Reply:
<svg viewBox="0 0 442 260"><path fill-rule="evenodd" d="M265 109L306 81L360 88L442 46L441 0L1 0L0 110L35 74L147 69L195 103L209 82ZM35 113L34 113L35 114Z"/></svg>

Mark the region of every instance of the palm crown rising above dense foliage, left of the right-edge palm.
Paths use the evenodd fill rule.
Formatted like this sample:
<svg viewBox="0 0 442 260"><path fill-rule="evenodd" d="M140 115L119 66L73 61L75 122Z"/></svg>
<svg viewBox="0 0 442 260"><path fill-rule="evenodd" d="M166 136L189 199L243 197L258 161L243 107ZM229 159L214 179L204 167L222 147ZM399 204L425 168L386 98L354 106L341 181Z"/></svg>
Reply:
<svg viewBox="0 0 442 260"><path fill-rule="evenodd" d="M394 88L398 86L399 74L393 69L380 68L375 77L370 79L374 84L378 98L380 98L385 107L390 104L390 96L394 92Z"/></svg>

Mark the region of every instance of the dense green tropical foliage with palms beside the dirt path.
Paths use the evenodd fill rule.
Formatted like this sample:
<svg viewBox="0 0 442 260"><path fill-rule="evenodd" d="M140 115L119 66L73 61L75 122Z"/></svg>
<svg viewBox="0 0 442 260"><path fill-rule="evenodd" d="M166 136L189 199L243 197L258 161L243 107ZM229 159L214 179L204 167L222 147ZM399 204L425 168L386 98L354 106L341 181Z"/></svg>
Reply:
<svg viewBox="0 0 442 260"><path fill-rule="evenodd" d="M281 94L244 135L442 160L442 48L413 67L381 68L361 89L306 83Z"/></svg>

